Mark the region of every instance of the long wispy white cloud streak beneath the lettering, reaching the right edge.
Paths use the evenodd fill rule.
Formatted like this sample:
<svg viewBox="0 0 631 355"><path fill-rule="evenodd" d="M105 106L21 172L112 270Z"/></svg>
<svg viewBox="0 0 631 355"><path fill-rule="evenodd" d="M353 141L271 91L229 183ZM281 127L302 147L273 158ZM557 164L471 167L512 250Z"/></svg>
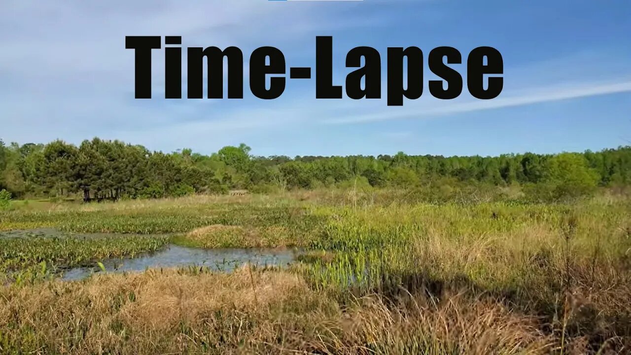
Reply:
<svg viewBox="0 0 631 355"><path fill-rule="evenodd" d="M213 147L236 144L239 141L251 141L256 136L267 135L270 131L315 129L317 126L331 127L342 124L362 125L365 123L401 119L421 119L448 116L466 112L502 109L505 107L536 105L543 102L579 99L594 95L631 92L631 81L620 83L576 83L573 85L555 85L547 88L530 88L518 90L506 97L493 100L465 99L437 100L425 98L418 102L406 102L404 107L387 107L385 100L373 100L372 108L366 109L357 100L333 100L327 104L319 104L320 100L300 97L294 100L260 101L259 105L231 109L220 118L211 118L208 114L184 105L172 112L156 112L160 117L184 114L197 117L191 121L164 121L151 127L135 125L128 129L115 129L111 136L141 144L156 144L160 147L191 147L204 149L210 141ZM306 95L306 94L305 94ZM216 101L211 101L216 102ZM219 102L217 102L219 103ZM215 106L215 105L213 105ZM378 108L377 108L378 107ZM353 112L362 111L361 114ZM335 129L335 128L331 128ZM409 131L385 131L383 138L401 143L414 135ZM415 138L418 141L420 138Z"/></svg>

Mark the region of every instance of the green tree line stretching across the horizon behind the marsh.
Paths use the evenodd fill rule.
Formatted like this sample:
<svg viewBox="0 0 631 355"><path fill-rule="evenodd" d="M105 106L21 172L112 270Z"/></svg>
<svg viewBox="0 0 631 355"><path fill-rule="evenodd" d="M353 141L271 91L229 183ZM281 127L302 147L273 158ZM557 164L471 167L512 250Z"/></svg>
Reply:
<svg viewBox="0 0 631 355"><path fill-rule="evenodd" d="M160 198L231 189L268 192L325 186L417 188L436 184L524 186L550 196L631 184L631 147L600 152L504 154L498 157L396 155L348 157L251 155L245 144L210 155L191 149L152 152L93 138L80 145L5 144L0 190L16 197L82 196L83 200ZM542 192L543 191L543 192Z"/></svg>

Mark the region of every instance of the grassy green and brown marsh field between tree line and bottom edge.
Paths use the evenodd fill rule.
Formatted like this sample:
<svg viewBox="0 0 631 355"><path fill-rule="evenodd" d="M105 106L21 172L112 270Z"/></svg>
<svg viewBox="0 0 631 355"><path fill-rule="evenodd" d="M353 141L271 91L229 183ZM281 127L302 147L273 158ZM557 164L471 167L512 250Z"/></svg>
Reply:
<svg viewBox="0 0 631 355"><path fill-rule="evenodd" d="M339 191L19 205L0 231L64 235L0 236L0 353L628 353L630 212ZM283 270L54 277L167 243L306 251Z"/></svg>

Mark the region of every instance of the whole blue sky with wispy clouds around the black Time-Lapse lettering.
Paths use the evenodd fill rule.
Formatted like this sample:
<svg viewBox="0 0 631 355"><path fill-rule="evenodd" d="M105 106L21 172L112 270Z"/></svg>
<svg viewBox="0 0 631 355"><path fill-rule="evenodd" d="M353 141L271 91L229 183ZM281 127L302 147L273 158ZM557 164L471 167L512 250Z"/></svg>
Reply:
<svg viewBox="0 0 631 355"><path fill-rule="evenodd" d="M0 139L81 143L98 136L172 152L246 143L254 155L499 155L601 150L631 141L628 0L1 0ZM244 99L164 99L163 51L153 51L153 98L134 99L127 35L180 35L182 47L244 52ZM382 99L315 99L315 78L287 79L262 100L249 91L249 55L271 45L287 67L315 68L315 37L333 36L334 83L368 45L382 60ZM427 54L481 45L504 59L504 90L433 98ZM386 104L387 47L425 56L423 95ZM163 46L164 47L164 46ZM183 51L186 63L186 51ZM314 72L314 70L312 70ZM186 64L183 68L186 89ZM205 85L205 83L204 83ZM186 92L184 92L186 97Z"/></svg>

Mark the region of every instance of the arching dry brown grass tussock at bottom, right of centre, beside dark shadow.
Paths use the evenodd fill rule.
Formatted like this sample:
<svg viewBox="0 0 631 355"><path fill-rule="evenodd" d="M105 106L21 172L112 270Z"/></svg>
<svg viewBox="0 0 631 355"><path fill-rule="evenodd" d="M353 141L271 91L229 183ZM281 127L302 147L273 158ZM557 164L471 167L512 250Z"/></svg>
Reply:
<svg viewBox="0 0 631 355"><path fill-rule="evenodd" d="M540 354L554 341L538 327L536 318L490 299L417 295L396 308L379 298L363 299L345 334L387 354Z"/></svg>

